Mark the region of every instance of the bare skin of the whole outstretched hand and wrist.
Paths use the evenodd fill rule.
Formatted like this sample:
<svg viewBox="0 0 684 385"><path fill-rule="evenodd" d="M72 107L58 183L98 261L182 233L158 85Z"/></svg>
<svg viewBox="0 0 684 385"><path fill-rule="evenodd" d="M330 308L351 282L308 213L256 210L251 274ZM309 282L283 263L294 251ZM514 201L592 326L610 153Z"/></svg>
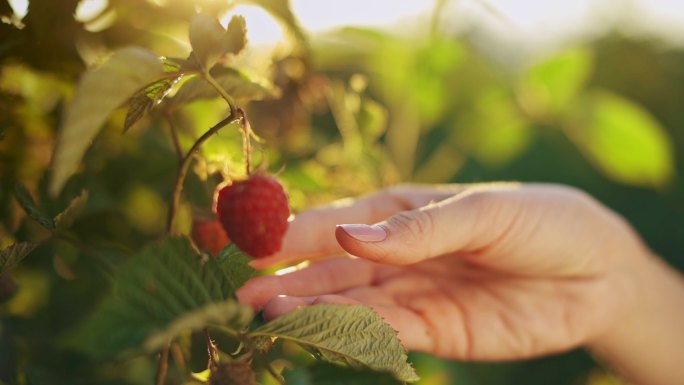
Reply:
<svg viewBox="0 0 684 385"><path fill-rule="evenodd" d="M376 236L344 223L376 224ZM241 302L267 318L362 304L409 350L500 361L582 346L634 383L684 383L682 277L570 187L395 187L298 215L283 250L253 265L302 259L314 263L252 279Z"/></svg>

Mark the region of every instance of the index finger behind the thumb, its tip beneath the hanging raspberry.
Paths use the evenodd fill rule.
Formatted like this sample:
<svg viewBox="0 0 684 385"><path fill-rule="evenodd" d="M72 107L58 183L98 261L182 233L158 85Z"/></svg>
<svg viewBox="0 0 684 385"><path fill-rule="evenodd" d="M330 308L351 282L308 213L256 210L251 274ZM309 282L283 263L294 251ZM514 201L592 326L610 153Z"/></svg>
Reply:
<svg viewBox="0 0 684 385"><path fill-rule="evenodd" d="M264 269L342 253L335 238L338 224L373 224L397 212L413 210L463 190L460 185L402 185L304 211L290 222L282 249L270 257L252 261L251 265Z"/></svg>

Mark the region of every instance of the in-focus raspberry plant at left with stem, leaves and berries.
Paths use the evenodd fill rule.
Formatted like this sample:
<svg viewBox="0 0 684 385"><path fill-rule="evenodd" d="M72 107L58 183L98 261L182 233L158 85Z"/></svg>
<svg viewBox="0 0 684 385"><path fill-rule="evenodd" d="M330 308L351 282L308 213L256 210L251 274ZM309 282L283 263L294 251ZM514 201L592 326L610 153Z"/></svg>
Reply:
<svg viewBox="0 0 684 385"><path fill-rule="evenodd" d="M290 25L295 36L303 38L292 14L284 6L286 3L255 3ZM247 43L244 18L233 17L224 29L213 16L199 13L190 23L189 40L192 52L187 58L160 58L142 48L119 50L83 75L67 106L49 182L53 195L62 191L109 115L124 104L128 108L124 132L147 113L156 113L168 120L170 143L179 162L169 198L166 235L137 252L124 252L130 254L126 262L108 271L112 280L111 292L94 306L86 319L74 325L70 334L63 336L63 348L70 354L101 360L105 366L156 355L156 376L150 378L149 383L157 385L254 384L257 372L268 373L281 384L301 383L302 376L316 384L397 384L417 380L396 332L368 308L316 305L264 323L251 308L238 303L235 290L256 273L248 265L250 256L245 251L252 252L254 257L276 251L285 230L282 225L267 227L270 233L259 234L261 238L246 243L242 241L250 234L233 229L242 238L229 234L234 243L219 251L222 245L212 242L229 242L225 234L209 234L207 239L207 234L196 227L199 233L194 234L196 242L193 242L190 231L179 223L186 177L193 161L200 157L202 145L219 130L239 130L245 171L236 173L233 170L228 178L248 178L252 172L251 143L258 138L251 130L244 108L250 100L277 95L273 86L254 81L232 66L233 58ZM211 97L225 101L226 117L184 148L173 111L184 108L191 101ZM233 187L264 181L269 188L279 187L274 179L261 174L255 174L246 182L235 182ZM54 217L45 214L21 185L17 186L16 198L26 213L47 231L44 241L58 239L74 247L87 248L74 237L69 227L87 203L88 192L84 190ZM251 196L249 199L257 198ZM230 208L226 208L225 203L221 206L222 201L219 201L219 211L228 211L229 217L222 219L224 226L230 229L235 225L231 222L235 215L233 209L244 202L234 202L232 206L228 205ZM269 216L271 210L280 210L276 214L278 221L283 221L288 214L283 211L287 209L286 201L278 201L275 208L259 204L250 207L244 213L247 217ZM205 212L196 217L206 216L209 208L204 209ZM214 226L206 228L215 231L215 220L209 218L207 223L212 220ZM249 218L242 219L242 223L245 220L249 221ZM226 226L226 222L231 223ZM259 227L259 224L255 226ZM256 227L248 232L260 231ZM252 247L255 242L262 241L274 247L268 250ZM240 250L240 246L245 250ZM17 242L2 249L0 273L4 281L0 288L7 292L2 294L10 295L13 290L11 276L5 273L36 247L38 243L35 242ZM340 332L342 330L344 333ZM221 342L217 343L213 335L219 335ZM317 360L295 360L288 364L291 370L283 371L282 341L294 342ZM192 372L184 357L198 344L206 346L207 369ZM377 346L383 349L377 349ZM295 370L292 370L293 365ZM301 366L299 370L298 365Z"/></svg>

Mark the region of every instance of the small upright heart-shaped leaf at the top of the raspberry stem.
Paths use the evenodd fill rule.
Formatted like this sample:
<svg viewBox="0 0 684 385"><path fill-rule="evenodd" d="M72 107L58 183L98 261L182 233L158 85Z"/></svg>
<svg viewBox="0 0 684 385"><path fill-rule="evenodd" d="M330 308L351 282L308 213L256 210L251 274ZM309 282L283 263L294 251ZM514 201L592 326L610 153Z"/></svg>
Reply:
<svg viewBox="0 0 684 385"><path fill-rule="evenodd" d="M233 16L226 30L215 17L198 13L190 22L189 36L192 55L206 70L227 54L237 55L247 45L247 28L242 16Z"/></svg>

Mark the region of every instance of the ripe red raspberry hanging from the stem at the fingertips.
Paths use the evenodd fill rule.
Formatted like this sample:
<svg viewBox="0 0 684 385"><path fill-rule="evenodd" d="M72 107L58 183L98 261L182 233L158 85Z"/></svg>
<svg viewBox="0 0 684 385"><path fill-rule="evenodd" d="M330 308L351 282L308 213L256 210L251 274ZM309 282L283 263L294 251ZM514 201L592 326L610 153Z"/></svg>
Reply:
<svg viewBox="0 0 684 385"><path fill-rule="evenodd" d="M274 178L255 174L222 188L216 212L230 239L245 253L262 258L280 250L290 207Z"/></svg>

